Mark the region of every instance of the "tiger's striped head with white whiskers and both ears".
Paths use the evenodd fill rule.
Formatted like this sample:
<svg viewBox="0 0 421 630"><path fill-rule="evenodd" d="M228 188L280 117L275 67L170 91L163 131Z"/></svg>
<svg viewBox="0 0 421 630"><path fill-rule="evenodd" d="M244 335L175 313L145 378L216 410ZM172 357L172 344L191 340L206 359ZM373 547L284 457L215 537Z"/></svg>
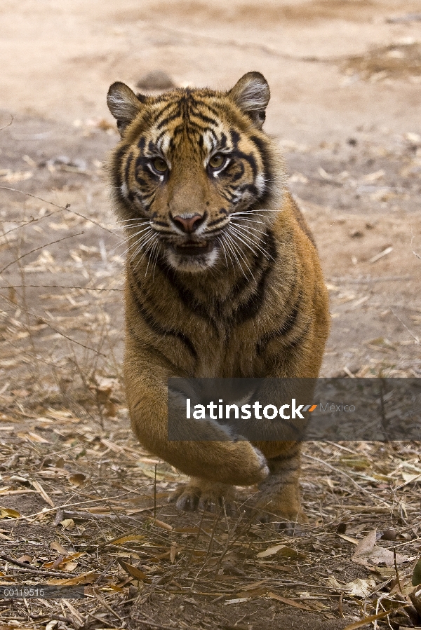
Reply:
<svg viewBox="0 0 421 630"><path fill-rule="evenodd" d="M274 143L262 132L269 97L258 72L228 92L152 97L111 85L107 104L121 135L112 186L133 258L195 272L265 255L283 188Z"/></svg>

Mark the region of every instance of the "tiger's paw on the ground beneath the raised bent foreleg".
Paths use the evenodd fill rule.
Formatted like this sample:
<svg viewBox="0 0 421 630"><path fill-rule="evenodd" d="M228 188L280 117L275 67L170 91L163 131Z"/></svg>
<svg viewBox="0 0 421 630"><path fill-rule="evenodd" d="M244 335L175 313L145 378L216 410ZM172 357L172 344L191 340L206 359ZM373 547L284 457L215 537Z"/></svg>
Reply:
<svg viewBox="0 0 421 630"><path fill-rule="evenodd" d="M234 487L199 477L191 477L187 485L178 486L170 500L175 501L178 509L184 512L194 512L196 509L216 512L225 508L227 514L235 514Z"/></svg>

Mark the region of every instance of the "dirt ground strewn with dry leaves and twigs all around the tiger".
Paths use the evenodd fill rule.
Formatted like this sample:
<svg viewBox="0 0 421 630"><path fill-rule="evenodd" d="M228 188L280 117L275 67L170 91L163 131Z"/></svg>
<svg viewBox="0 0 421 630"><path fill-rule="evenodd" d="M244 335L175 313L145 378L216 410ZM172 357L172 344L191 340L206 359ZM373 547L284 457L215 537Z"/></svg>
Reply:
<svg viewBox="0 0 421 630"><path fill-rule="evenodd" d="M0 599L1 630L333 630L376 614L378 627L421 626L401 606L420 554L417 444L307 444L309 524L293 536L250 522L244 493L236 518L168 504L182 475L142 454L124 405L124 244L105 171L113 81L147 90L165 71L230 88L261 71L265 128L330 291L322 375L421 376L419 11L2 1L0 587L91 590Z"/></svg>

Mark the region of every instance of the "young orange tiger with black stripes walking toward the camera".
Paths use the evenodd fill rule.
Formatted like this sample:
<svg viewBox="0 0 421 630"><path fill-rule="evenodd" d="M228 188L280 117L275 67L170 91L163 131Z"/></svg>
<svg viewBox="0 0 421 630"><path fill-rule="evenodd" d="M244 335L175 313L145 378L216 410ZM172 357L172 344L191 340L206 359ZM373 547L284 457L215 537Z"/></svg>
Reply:
<svg viewBox="0 0 421 630"><path fill-rule="evenodd" d="M169 377L316 377L328 336L319 256L262 131L269 85L135 95L113 83L121 135L110 164L126 261L126 395L150 453L192 477L180 509L259 484L255 505L305 519L295 441L171 441ZM194 428L194 427L193 427ZM220 439L218 439L220 437Z"/></svg>

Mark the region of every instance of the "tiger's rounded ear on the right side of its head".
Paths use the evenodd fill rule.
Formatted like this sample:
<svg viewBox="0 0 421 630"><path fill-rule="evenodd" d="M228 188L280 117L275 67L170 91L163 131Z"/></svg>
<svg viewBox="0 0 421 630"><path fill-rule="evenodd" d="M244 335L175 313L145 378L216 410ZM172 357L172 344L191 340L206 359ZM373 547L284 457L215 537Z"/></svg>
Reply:
<svg viewBox="0 0 421 630"><path fill-rule="evenodd" d="M270 99L269 85L260 72L248 72L229 90L234 103L249 116L256 127L262 128L265 122L265 109Z"/></svg>

